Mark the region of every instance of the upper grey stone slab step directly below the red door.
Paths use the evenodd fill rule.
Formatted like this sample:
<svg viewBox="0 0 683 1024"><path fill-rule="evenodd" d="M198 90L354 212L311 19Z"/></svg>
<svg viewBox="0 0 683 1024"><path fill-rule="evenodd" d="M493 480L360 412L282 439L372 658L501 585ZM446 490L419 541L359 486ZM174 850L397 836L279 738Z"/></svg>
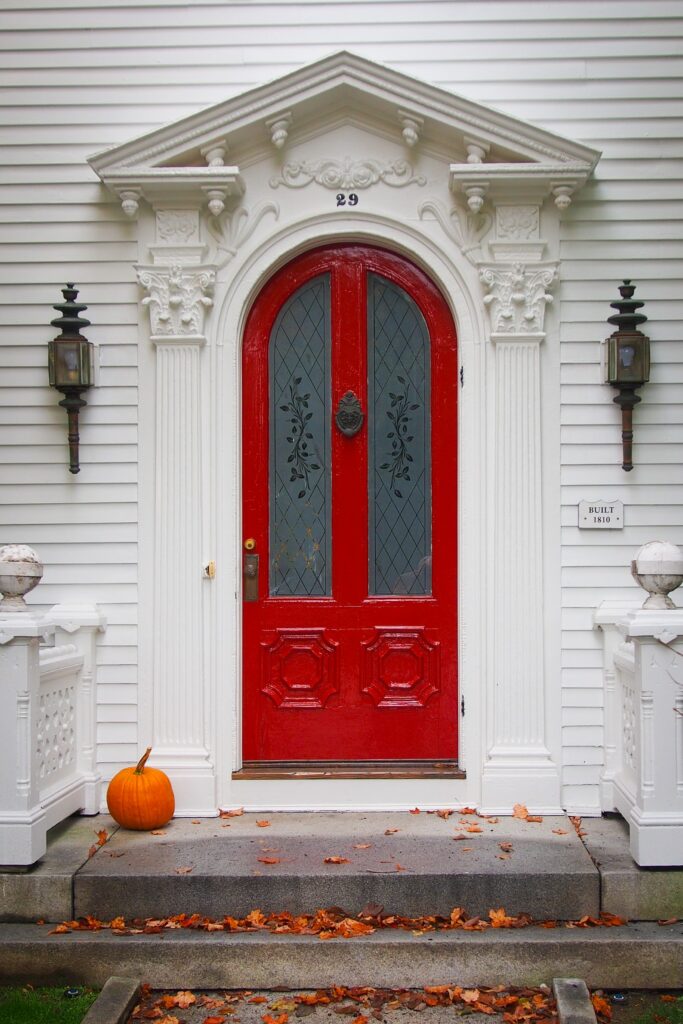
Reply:
<svg viewBox="0 0 683 1024"><path fill-rule="evenodd" d="M259 826L264 819L270 823ZM447 915L454 906L471 915L505 907L536 920L599 914L599 873L566 818L462 821L405 812L272 814L178 819L157 836L121 829L76 873L74 912L220 919L255 907L357 913L377 903L408 916ZM330 857L343 862L326 863Z"/></svg>

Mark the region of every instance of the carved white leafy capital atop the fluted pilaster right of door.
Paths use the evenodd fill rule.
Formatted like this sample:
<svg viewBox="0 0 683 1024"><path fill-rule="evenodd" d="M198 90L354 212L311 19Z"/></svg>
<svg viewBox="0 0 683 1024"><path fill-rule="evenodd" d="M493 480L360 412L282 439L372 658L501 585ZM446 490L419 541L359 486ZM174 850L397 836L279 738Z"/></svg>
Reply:
<svg viewBox="0 0 683 1024"><path fill-rule="evenodd" d="M526 269L513 263L505 269L483 267L479 279L488 294L492 332L507 335L542 335L546 306L553 301L549 289L557 281L557 267Z"/></svg>

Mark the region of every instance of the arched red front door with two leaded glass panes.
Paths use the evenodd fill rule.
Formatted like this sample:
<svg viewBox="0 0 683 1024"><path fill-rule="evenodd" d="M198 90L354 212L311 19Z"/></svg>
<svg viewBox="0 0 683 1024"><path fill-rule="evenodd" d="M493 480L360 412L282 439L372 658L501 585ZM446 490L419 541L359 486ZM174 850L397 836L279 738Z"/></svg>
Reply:
<svg viewBox="0 0 683 1024"><path fill-rule="evenodd" d="M306 253L251 310L243 395L245 762L454 761L442 296L383 250Z"/></svg>

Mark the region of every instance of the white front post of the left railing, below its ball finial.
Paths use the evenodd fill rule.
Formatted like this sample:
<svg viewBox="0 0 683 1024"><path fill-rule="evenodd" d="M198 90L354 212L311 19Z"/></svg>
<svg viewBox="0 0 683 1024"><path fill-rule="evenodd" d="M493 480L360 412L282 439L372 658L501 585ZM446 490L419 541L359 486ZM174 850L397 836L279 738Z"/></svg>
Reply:
<svg viewBox="0 0 683 1024"><path fill-rule="evenodd" d="M33 864L45 853L47 824L35 762L41 638L31 612L0 616L0 864Z"/></svg>

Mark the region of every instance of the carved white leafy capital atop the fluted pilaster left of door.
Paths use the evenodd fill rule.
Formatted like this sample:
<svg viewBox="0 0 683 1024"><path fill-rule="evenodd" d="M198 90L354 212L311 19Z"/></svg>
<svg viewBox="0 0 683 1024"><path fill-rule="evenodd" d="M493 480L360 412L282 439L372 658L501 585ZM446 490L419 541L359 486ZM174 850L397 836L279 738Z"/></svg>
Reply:
<svg viewBox="0 0 683 1024"><path fill-rule="evenodd" d="M139 267L137 280L150 294L142 305L150 307L152 334L184 338L204 330L204 315L213 305L216 272L206 267L197 270L172 264L168 272Z"/></svg>

